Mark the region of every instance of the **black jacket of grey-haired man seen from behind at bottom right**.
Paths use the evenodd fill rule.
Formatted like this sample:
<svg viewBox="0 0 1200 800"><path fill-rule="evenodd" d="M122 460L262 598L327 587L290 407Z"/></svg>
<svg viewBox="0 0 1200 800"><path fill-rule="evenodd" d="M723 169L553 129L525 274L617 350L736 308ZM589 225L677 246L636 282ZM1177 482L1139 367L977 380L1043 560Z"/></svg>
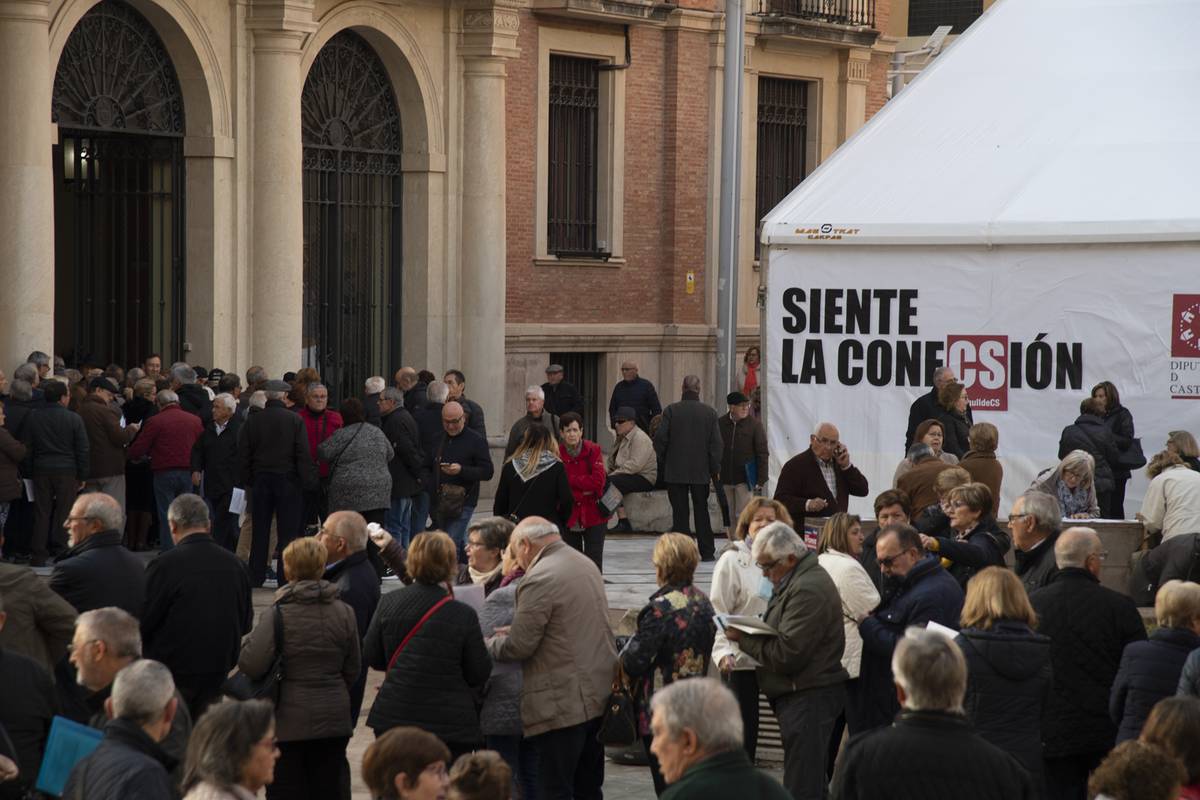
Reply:
<svg viewBox="0 0 1200 800"><path fill-rule="evenodd" d="M1030 774L961 714L904 711L895 724L850 741L833 800L1028 800Z"/></svg>

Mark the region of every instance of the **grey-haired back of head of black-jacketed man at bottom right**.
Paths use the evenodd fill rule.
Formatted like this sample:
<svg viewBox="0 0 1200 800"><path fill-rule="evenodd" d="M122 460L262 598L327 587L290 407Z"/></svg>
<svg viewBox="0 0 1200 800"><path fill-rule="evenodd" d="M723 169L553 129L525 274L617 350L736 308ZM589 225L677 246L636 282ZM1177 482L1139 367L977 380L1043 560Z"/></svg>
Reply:
<svg viewBox="0 0 1200 800"><path fill-rule="evenodd" d="M913 711L962 711L967 662L954 639L913 625L892 654L892 674Z"/></svg>

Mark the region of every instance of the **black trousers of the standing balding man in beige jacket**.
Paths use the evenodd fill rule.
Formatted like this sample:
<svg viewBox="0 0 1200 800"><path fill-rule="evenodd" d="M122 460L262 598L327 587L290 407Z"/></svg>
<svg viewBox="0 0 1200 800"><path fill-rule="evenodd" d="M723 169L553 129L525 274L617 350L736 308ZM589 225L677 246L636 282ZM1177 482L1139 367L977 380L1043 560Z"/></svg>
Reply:
<svg viewBox="0 0 1200 800"><path fill-rule="evenodd" d="M538 753L538 800L602 800L600 721L596 717L527 740Z"/></svg>

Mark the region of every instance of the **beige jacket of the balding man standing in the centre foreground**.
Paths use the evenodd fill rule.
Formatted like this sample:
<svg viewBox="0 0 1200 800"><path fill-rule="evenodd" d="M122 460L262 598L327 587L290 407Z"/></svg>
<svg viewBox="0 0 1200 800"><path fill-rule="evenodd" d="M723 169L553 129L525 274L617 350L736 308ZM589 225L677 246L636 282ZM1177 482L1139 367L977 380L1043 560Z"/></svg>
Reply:
<svg viewBox="0 0 1200 800"><path fill-rule="evenodd" d="M582 724L604 714L617 648L604 578L565 542L547 545L517 589L505 637L487 642L496 661L520 661L526 736Z"/></svg>

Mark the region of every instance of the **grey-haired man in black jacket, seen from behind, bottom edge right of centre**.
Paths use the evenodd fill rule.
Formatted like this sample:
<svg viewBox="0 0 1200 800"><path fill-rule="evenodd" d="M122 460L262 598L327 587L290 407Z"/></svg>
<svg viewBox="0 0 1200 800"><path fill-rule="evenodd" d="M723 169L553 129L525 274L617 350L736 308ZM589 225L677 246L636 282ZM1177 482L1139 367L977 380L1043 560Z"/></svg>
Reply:
<svg viewBox="0 0 1200 800"><path fill-rule="evenodd" d="M962 712L967 664L949 637L910 627L892 668L904 711L895 724L851 740L834 777L836 800L1042 796L1015 758L972 730Z"/></svg>

